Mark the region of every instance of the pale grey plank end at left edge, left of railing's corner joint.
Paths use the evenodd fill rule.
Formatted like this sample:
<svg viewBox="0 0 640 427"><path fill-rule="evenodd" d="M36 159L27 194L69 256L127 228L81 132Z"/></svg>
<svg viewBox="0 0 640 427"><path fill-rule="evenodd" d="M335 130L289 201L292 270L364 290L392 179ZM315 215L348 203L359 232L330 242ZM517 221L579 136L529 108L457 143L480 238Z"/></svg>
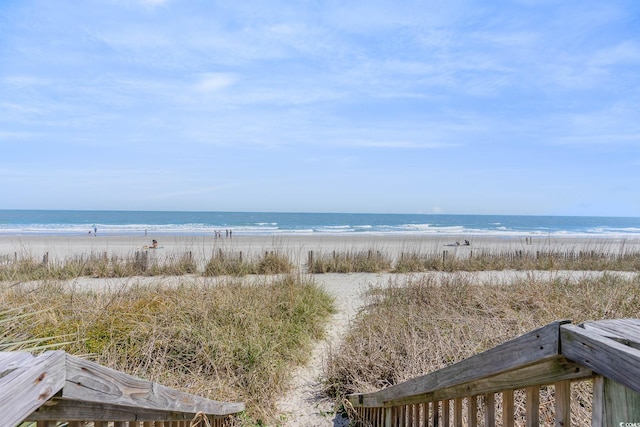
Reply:
<svg viewBox="0 0 640 427"><path fill-rule="evenodd" d="M39 356L24 352L2 355L0 414L4 425L20 424L62 389L64 363L62 351Z"/></svg>

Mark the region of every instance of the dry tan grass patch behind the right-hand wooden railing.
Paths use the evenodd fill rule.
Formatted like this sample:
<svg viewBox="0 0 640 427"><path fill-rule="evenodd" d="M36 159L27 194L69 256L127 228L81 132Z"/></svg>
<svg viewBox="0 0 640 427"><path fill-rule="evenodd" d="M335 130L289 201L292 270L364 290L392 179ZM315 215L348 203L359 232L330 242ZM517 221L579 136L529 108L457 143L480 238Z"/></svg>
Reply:
<svg viewBox="0 0 640 427"><path fill-rule="evenodd" d="M497 279L426 275L371 290L361 313L326 369L328 391L340 400L424 375L559 319L638 317L640 277L623 279ZM574 420L590 418L590 384L574 387ZM541 419L550 417L553 387L543 390ZM521 405L522 406L522 405ZM522 414L521 414L522 415ZM588 424L587 424L588 425Z"/></svg>

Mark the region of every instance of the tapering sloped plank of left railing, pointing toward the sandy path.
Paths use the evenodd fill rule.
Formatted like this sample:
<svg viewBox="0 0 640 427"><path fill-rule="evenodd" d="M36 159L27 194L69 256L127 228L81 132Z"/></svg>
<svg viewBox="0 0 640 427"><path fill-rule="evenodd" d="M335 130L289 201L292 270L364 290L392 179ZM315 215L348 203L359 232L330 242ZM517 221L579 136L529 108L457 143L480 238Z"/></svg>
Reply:
<svg viewBox="0 0 640 427"><path fill-rule="evenodd" d="M62 397L101 404L207 415L242 412L244 403L218 402L142 380L87 360L67 355Z"/></svg>

